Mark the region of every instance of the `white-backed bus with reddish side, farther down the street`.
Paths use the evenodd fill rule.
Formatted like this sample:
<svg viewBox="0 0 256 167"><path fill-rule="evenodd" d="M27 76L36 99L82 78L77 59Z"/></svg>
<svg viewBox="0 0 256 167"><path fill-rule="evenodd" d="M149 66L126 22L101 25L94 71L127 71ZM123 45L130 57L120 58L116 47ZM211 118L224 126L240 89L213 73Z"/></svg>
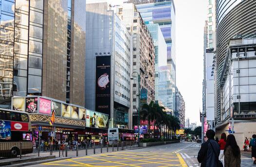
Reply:
<svg viewBox="0 0 256 167"><path fill-rule="evenodd" d="M119 141L134 141L134 130L109 128L108 140L110 145Z"/></svg>

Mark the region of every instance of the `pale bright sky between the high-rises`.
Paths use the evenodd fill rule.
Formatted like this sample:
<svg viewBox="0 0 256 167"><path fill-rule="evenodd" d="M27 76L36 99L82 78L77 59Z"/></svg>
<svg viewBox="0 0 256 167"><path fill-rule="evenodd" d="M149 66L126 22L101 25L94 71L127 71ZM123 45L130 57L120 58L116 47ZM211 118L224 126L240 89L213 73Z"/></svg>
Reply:
<svg viewBox="0 0 256 167"><path fill-rule="evenodd" d="M126 0L108 1L121 4ZM174 0L176 8L176 84L185 100L185 117L200 124L203 79L203 27L208 0Z"/></svg>

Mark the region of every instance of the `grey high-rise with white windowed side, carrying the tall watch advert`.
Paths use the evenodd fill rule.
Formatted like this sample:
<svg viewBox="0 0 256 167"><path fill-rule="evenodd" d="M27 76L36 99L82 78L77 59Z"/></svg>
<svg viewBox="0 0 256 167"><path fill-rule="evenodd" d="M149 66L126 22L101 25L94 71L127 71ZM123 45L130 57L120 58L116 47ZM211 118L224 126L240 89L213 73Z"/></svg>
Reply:
<svg viewBox="0 0 256 167"><path fill-rule="evenodd" d="M131 35L108 3L87 4L86 13L85 106L109 114L110 127L131 128Z"/></svg>

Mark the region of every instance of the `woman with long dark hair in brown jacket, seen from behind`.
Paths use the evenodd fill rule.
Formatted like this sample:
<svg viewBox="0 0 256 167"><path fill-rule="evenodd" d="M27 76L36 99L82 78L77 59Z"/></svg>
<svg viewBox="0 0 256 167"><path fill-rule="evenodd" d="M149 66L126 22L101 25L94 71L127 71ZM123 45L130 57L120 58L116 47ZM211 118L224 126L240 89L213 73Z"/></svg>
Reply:
<svg viewBox="0 0 256 167"><path fill-rule="evenodd" d="M224 149L224 156L225 167L241 166L240 148L233 134L229 134L227 137L226 146Z"/></svg>

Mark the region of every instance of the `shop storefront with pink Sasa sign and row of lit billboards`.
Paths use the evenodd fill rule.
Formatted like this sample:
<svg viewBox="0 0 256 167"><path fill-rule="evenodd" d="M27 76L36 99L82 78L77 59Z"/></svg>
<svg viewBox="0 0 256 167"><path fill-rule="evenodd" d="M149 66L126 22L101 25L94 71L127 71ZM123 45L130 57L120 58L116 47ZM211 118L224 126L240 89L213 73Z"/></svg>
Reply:
<svg viewBox="0 0 256 167"><path fill-rule="evenodd" d="M39 138L39 127L42 128L40 138L43 141L93 140L95 144L107 141L109 127L107 114L41 96L13 97L12 109L30 114L34 141ZM54 126L50 126L53 111L55 111L55 122ZM54 133L54 137L51 133Z"/></svg>

